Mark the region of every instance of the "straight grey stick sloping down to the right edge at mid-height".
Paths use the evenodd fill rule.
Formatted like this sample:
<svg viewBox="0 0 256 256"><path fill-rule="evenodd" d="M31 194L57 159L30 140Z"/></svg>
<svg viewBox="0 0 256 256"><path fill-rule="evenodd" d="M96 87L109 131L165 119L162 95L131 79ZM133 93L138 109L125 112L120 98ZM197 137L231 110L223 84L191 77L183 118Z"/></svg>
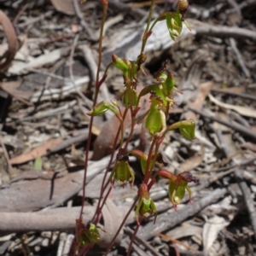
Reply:
<svg viewBox="0 0 256 256"><path fill-rule="evenodd" d="M248 137L252 137L254 140L256 140L256 133L255 132L253 132L252 130L248 129L244 125L240 125L239 123L237 123L237 122L235 122L233 120L225 121L223 119L218 119L218 118L216 118L214 116L211 116L211 115L209 115L207 113L204 113L204 112L202 112L200 110L197 110L195 108L189 108L189 110L191 110L191 111L193 111L195 113L200 114L204 118L207 118L207 119L210 119L212 121L218 122L219 124L222 124L222 125L226 125L226 126L232 128L233 130L239 131L242 134L245 134Z"/></svg>

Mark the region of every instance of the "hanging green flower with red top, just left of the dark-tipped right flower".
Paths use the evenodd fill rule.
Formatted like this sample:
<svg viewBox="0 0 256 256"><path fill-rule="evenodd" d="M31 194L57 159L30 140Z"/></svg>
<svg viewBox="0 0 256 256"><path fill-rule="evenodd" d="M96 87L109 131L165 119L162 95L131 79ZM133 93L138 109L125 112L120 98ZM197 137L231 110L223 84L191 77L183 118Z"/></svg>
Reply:
<svg viewBox="0 0 256 256"><path fill-rule="evenodd" d="M145 183L142 183L138 193L141 196L135 209L135 218L137 219L137 224L139 224L139 218L147 219L148 216L151 216L152 214L154 214L155 223L157 217L157 208L154 205L154 201L149 196L148 186Z"/></svg>

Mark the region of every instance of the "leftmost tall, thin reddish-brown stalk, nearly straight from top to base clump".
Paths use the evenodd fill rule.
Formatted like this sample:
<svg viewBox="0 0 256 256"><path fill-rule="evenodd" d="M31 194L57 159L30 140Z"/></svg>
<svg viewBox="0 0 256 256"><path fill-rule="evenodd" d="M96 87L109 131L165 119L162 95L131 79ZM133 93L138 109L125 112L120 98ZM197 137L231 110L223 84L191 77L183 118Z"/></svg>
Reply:
<svg viewBox="0 0 256 256"><path fill-rule="evenodd" d="M108 2L107 2L108 3ZM100 32L100 38L99 38L99 59L98 59L98 67L97 67L97 73L96 73L96 89L95 89L95 96L93 100L93 107L96 105L97 97L99 94L100 87L98 86L99 77L100 77L100 70L102 66L102 38L103 38L103 29L105 20L107 17L107 11L108 11L108 4L103 4L103 13L102 13L102 24L101 24L101 32ZM82 218L83 210L84 210L84 199L85 199L85 183L86 183L86 176L87 176L87 167L88 167L88 160L89 160L89 149L90 149L90 141L91 141L91 130L93 125L93 116L90 118L90 125L89 125L89 136L86 144L86 151L85 151L85 160L84 160L84 180L83 180L83 197L82 197L82 207L80 211L80 218Z"/></svg>

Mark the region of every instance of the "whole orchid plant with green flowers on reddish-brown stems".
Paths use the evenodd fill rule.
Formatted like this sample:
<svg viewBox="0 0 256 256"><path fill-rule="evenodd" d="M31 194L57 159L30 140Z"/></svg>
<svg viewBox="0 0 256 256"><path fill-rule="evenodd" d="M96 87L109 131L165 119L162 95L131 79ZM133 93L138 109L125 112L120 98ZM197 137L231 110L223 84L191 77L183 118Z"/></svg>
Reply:
<svg viewBox="0 0 256 256"><path fill-rule="evenodd" d="M88 224L84 224L82 219L85 198L85 191L83 190L84 198L82 201L82 209L80 213L80 218L77 219L76 222L76 247L73 250L73 254L77 255L84 255L86 252L88 252L90 247L92 247L96 242L100 241L101 238L99 235L99 227L97 226L97 224L102 218L102 207L104 206L104 203L107 200L111 189L113 189L113 183L119 182L121 186L124 186L126 183L131 183L131 186L133 186L136 176L135 172L132 170L129 163L130 155L137 157L137 159L140 160L141 162L143 182L140 184L137 190L137 197L134 199L130 211L127 212L127 215L125 216L123 223L119 227L116 236L113 237L113 241L118 236L118 233L122 229L123 224L125 224L125 219L129 215L129 213L133 211L134 208L135 218L137 220L137 229L134 233L134 236L132 236L133 238L136 236L136 232L143 219L148 218L148 216L154 215L154 223L157 221L157 208L155 207L154 201L150 198L150 189L154 185L156 177L166 178L169 181L169 199L176 211L177 205L183 200L186 190L189 192L189 201L192 203L192 196L191 190L189 189L189 183L198 183L198 179L193 177L189 172L182 172L179 173L178 175L175 175L172 172L165 170L164 167L166 166L166 163L164 162L162 155L159 152L161 143L163 142L163 139L168 131L178 129L180 133L183 135L183 137L185 137L186 139L195 139L195 122L192 119L178 121L177 123L174 123L169 126L166 125L168 113L175 103L173 100L173 93L182 93L175 87L175 79L173 77L173 74L167 71L167 61L164 63L163 67L161 67L160 70L156 73L154 83L144 86L143 90L141 90L140 92L137 91L139 73L146 75L146 73L143 70L143 63L147 59L147 55L145 54L144 49L145 45L147 44L148 38L154 32L155 24L159 21L166 20L166 29L170 34L170 38L176 41L183 30L183 25L189 28L189 24L185 20L186 11L189 8L188 1L178 0L177 12L166 12L160 15L156 20L154 20L154 22L151 22L152 12L154 8L154 0L152 0L148 12L148 23L143 33L142 48L140 54L137 56L137 60L132 61L122 59L119 56L113 54L112 62L108 65L107 69L105 70L102 79L99 78L99 71L102 61L102 31L106 20L108 1L101 0L101 3L103 13L101 35L99 41L100 54L93 108L88 113L88 115L90 115L90 136L87 142L87 149L85 154L84 187L86 180L88 152L93 118L107 111L113 112L119 119L119 132L116 136L119 137L120 134L121 141L119 143L118 154L116 155L113 170L111 172L110 177L107 179L107 173L110 171L110 164L113 160L113 154L117 146L117 143L115 143L114 145L112 157L107 167L105 177L102 181L102 190L100 192L100 199L96 207L96 213L94 218ZM107 78L108 68L111 66L117 68L119 72L122 74L123 81L125 84L125 91L120 101L97 102L98 92L100 90L102 83ZM150 98L150 107L145 113L143 113L142 116L138 117L138 113L141 108L142 98L143 96L147 95L149 95ZM120 106L124 106L125 111L122 112ZM129 136L125 141L124 119L128 112L131 113L131 129ZM138 149L132 149L130 151L128 151L127 149L128 144L131 142L135 125L142 122L150 135L150 148L147 154ZM110 189L108 189L109 184L111 184ZM107 195L104 195L106 189L108 189L108 192L106 193ZM106 255L113 246L113 241L109 244ZM130 252L131 244L127 255L129 255Z"/></svg>

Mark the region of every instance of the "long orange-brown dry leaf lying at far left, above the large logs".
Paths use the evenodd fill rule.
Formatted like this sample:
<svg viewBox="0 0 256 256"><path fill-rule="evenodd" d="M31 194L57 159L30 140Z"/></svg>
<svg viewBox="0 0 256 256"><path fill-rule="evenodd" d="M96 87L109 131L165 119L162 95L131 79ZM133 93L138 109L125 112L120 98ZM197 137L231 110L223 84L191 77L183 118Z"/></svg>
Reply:
<svg viewBox="0 0 256 256"><path fill-rule="evenodd" d="M47 143L44 143L37 148L33 148L31 151L26 152L24 154L20 154L13 159L10 160L10 163L12 165L18 165L25 163L30 160L34 160L39 156L43 156L44 154L47 154L47 151L51 148L54 148L57 144L61 143L61 139L53 139L49 140Z"/></svg>

